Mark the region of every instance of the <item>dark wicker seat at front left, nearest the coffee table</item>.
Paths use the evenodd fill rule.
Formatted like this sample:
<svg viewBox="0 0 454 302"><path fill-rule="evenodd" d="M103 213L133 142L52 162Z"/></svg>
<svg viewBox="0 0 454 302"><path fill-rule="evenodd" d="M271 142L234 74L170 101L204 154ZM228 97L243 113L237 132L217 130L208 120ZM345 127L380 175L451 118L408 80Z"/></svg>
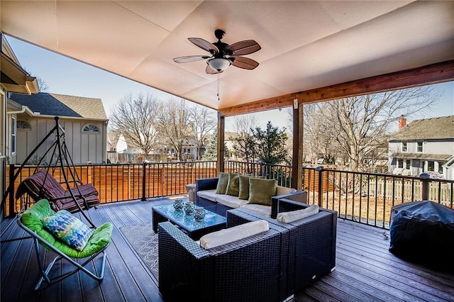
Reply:
<svg viewBox="0 0 454 302"><path fill-rule="evenodd" d="M232 226L232 223L230 224ZM165 301L279 301L279 232L205 250L170 222L158 225L159 289Z"/></svg>

